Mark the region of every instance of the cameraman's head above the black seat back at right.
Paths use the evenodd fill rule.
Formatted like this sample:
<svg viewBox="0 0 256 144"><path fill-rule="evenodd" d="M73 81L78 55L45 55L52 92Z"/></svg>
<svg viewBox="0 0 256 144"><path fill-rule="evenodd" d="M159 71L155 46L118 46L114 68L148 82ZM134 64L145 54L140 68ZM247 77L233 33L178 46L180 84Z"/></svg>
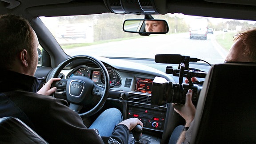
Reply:
<svg viewBox="0 0 256 144"><path fill-rule="evenodd" d="M256 28L236 35L225 61L256 62Z"/></svg>

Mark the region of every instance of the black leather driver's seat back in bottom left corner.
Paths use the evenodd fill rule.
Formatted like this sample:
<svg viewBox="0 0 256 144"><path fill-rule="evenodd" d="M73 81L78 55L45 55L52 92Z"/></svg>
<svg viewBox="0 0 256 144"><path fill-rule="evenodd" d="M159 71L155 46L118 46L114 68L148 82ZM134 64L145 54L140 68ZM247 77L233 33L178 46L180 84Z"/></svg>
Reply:
<svg viewBox="0 0 256 144"><path fill-rule="evenodd" d="M0 118L0 144L48 144L36 132L14 117Z"/></svg>

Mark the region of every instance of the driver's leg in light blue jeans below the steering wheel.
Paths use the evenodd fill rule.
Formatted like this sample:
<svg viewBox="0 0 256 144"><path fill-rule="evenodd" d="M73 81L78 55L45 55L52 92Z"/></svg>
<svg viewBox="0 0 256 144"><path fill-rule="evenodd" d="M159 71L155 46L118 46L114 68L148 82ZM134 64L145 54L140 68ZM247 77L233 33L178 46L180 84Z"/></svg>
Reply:
<svg viewBox="0 0 256 144"><path fill-rule="evenodd" d="M89 128L98 129L100 136L110 136L116 125L122 120L122 113L118 109L109 108L102 112Z"/></svg>

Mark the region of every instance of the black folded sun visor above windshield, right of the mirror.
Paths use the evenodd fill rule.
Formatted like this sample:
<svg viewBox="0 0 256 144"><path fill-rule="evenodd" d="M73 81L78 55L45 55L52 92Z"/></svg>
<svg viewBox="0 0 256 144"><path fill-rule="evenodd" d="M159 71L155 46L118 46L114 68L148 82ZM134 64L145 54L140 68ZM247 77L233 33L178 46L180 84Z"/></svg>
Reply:
<svg viewBox="0 0 256 144"><path fill-rule="evenodd" d="M238 19L238 20L256 20L256 7L251 5L239 4L220 4L209 2L176 1L168 3L169 13L183 13L184 15L206 16L216 18Z"/></svg>

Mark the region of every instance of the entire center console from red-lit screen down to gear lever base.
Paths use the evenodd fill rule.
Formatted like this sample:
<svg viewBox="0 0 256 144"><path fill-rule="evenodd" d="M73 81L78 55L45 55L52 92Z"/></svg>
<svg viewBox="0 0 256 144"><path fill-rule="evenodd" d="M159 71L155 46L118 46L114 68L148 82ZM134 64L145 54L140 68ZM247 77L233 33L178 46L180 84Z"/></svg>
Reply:
<svg viewBox="0 0 256 144"><path fill-rule="evenodd" d="M123 88L110 90L110 96L112 99L116 98L124 102L124 107L120 109L123 110L125 119L138 118L143 123L142 140L149 140L150 144L160 144L166 121L167 104L151 105L153 80L153 76L127 78ZM130 133L131 143L133 143L132 138L133 135Z"/></svg>

